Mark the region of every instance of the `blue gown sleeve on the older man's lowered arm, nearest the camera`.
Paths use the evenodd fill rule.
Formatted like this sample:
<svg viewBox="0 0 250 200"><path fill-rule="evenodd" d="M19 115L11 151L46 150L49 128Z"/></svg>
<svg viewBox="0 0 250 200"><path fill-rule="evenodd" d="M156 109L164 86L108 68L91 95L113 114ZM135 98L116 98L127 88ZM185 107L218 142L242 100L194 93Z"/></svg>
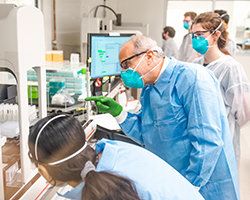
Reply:
<svg viewBox="0 0 250 200"><path fill-rule="evenodd" d="M189 78L184 77L184 83ZM188 118L187 131L193 147L185 177L194 186L201 187L214 171L224 145L221 124L224 105L220 91L211 80L196 80L180 92L179 98Z"/></svg>

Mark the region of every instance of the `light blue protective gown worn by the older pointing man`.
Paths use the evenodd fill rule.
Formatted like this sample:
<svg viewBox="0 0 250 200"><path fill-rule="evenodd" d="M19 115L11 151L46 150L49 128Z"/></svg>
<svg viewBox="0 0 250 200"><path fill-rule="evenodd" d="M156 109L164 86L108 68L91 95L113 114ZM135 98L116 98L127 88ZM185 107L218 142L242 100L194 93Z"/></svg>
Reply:
<svg viewBox="0 0 250 200"><path fill-rule="evenodd" d="M171 58L140 101L142 108L120 124L125 134L200 187L206 200L240 199L227 115L211 71Z"/></svg>

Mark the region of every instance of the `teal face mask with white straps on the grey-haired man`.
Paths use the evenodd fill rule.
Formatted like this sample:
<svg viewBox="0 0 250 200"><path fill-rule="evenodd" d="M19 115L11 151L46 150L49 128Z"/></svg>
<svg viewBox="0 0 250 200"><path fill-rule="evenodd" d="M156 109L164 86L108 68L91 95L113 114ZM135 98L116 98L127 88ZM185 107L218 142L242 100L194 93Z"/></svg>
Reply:
<svg viewBox="0 0 250 200"><path fill-rule="evenodd" d="M143 82L143 77L148 75L150 72L152 72L156 67L158 67L160 65L161 62L159 62L153 69L151 69L149 72L147 72L144 75L140 75L136 69L138 68L138 66L141 64L145 54L143 55L143 57L141 58L141 60L138 62L138 64L136 65L136 67L134 69L128 68L126 70L122 70L121 71L121 78L124 82L124 84L127 87L131 87L131 88L143 88L144 87L144 82Z"/></svg>

